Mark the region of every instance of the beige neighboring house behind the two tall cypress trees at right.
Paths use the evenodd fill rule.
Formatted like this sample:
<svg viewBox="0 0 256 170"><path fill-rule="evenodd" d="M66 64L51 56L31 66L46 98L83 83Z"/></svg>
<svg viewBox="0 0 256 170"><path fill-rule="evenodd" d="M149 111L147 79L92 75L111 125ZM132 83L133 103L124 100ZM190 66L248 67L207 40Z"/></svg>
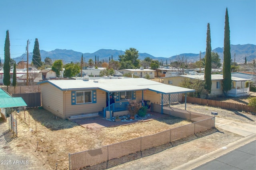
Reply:
<svg viewBox="0 0 256 170"><path fill-rule="evenodd" d="M211 94L208 96L209 98L214 98L218 96L222 96L223 94L223 88L222 88L222 81L223 76L222 74L212 74L212 89ZM180 76L174 76L174 77L164 77L163 83L169 84L172 86L180 86L180 83L185 79L198 79L198 80L204 80L204 75L180 75ZM249 88L245 87L245 82L250 80L248 78L238 78L238 77L231 77L232 80L232 88L228 91L228 96L232 97L240 97L240 96L249 96Z"/></svg>

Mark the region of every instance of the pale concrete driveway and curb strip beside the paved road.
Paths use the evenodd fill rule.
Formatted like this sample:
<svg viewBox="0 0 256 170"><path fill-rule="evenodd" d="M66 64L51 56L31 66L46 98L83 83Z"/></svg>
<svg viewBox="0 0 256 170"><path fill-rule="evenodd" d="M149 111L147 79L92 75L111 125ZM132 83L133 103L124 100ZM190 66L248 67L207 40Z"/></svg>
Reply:
<svg viewBox="0 0 256 170"><path fill-rule="evenodd" d="M197 168L202 164L210 162L228 152L231 152L232 150L238 149L239 147L242 147L256 140L256 125L250 125L246 123L240 123L228 119L223 119L220 117L215 117L215 127L241 135L244 138L233 143L230 143L227 146L222 147L218 150L200 156L197 159L191 160L186 164L173 168L174 170L191 170Z"/></svg>

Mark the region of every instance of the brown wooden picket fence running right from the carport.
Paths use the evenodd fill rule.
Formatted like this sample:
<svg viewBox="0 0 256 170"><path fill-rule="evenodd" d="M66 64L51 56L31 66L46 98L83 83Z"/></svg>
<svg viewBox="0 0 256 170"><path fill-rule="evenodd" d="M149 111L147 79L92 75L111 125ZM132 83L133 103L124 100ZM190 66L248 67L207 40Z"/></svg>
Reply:
<svg viewBox="0 0 256 170"><path fill-rule="evenodd" d="M185 101L185 97L183 96L182 102ZM236 103L230 103L230 102L221 102L217 100L208 100L208 99L201 99L201 98L192 98L187 96L187 102L193 103L193 104L200 104L205 106L211 106L211 107L220 107L222 109L228 109L228 110L237 110L237 111L248 111L248 112L256 112L256 108L253 106L248 106L245 104L236 104Z"/></svg>

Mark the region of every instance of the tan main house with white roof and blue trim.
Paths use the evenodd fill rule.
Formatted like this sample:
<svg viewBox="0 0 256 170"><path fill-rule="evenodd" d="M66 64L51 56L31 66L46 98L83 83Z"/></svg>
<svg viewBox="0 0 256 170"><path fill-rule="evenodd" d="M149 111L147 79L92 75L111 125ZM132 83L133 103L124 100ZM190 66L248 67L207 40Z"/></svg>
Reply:
<svg viewBox="0 0 256 170"><path fill-rule="evenodd" d="M39 82L42 107L66 119L75 115L89 115L127 106L129 100L162 102L161 94L180 94L195 90L147 80L145 78L115 78L99 80L47 80ZM114 107L112 107L115 105Z"/></svg>

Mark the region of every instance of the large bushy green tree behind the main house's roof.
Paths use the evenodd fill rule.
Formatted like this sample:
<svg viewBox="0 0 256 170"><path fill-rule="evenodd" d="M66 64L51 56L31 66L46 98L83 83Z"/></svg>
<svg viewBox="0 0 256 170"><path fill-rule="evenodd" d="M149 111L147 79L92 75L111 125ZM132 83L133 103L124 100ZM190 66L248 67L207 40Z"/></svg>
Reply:
<svg viewBox="0 0 256 170"><path fill-rule="evenodd" d="M135 48L126 49L124 55L119 55L119 61L121 63L120 69L125 68L138 68L140 66L140 60L138 60L139 51Z"/></svg>

